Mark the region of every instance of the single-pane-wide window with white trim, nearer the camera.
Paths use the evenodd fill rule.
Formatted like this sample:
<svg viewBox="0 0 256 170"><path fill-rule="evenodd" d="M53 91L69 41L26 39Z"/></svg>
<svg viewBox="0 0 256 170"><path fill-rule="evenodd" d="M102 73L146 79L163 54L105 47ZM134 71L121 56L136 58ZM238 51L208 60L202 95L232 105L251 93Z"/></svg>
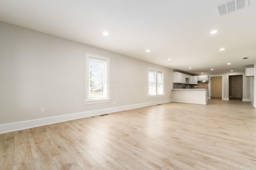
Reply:
<svg viewBox="0 0 256 170"><path fill-rule="evenodd" d="M110 102L110 59L86 53L86 100L85 104Z"/></svg>

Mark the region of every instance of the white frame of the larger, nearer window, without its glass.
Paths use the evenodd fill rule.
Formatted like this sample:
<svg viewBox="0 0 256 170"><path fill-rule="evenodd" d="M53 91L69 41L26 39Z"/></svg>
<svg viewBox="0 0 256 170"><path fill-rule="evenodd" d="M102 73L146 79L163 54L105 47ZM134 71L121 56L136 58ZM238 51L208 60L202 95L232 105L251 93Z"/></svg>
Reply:
<svg viewBox="0 0 256 170"><path fill-rule="evenodd" d="M106 98L98 98L98 99L90 99L90 58L92 59L96 59L96 60L103 60L106 61L107 63L107 78L106 78L106 82L105 85L106 87ZM90 53L86 53L85 54L85 88L86 88L86 92L85 92L85 102L84 104L98 104L98 103L106 103L106 102L110 102L110 58L108 57L103 57L100 55L95 55L95 54L90 54Z"/></svg>

